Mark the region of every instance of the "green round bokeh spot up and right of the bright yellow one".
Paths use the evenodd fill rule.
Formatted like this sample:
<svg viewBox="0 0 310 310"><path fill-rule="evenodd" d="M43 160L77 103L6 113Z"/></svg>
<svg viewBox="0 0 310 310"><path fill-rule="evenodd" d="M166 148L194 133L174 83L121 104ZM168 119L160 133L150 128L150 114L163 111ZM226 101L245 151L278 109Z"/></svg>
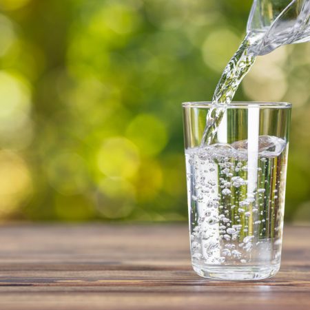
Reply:
<svg viewBox="0 0 310 310"><path fill-rule="evenodd" d="M158 154L167 144L165 125L150 114L136 116L127 127L126 135L144 155Z"/></svg>

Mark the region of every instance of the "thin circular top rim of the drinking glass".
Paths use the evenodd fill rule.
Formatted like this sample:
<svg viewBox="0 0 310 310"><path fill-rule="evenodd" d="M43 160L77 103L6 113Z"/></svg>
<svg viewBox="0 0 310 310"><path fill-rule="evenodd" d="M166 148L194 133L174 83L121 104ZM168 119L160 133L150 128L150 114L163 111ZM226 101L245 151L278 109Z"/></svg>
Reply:
<svg viewBox="0 0 310 310"><path fill-rule="evenodd" d="M188 101L182 103L183 107L224 107L225 109L247 109L249 107L269 108L269 109L290 109L291 103L268 102L268 101L231 101L227 104L214 104L212 101Z"/></svg>

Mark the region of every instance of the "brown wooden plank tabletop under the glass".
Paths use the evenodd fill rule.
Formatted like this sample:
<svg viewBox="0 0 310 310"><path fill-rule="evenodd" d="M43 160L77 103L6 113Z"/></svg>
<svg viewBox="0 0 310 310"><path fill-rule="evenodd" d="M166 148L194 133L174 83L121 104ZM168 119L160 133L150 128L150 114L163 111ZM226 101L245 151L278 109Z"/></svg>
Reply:
<svg viewBox="0 0 310 310"><path fill-rule="evenodd" d="M0 227L0 309L310 309L310 227L258 282L196 276L186 225Z"/></svg>

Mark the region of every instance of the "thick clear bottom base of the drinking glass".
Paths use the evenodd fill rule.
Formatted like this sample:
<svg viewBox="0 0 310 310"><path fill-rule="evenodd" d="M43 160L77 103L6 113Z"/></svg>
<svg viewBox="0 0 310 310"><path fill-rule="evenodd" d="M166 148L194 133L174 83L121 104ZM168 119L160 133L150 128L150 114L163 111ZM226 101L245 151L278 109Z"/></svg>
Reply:
<svg viewBox="0 0 310 310"><path fill-rule="evenodd" d="M231 267L231 266L208 266L193 265L193 269L199 276L214 280L261 280L273 277L280 269L279 265L268 267Z"/></svg>

